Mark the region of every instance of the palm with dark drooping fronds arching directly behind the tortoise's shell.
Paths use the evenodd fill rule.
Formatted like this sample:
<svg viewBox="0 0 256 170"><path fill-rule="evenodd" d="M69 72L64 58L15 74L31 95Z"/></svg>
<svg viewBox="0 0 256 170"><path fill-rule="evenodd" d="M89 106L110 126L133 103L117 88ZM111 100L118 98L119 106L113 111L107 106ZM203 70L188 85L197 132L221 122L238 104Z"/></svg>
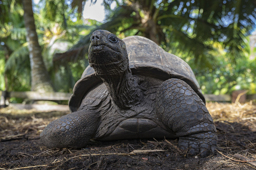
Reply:
<svg viewBox="0 0 256 170"><path fill-rule="evenodd" d="M106 22L94 30L105 29L121 38L145 36L168 52L212 67L215 43L233 61L249 52L246 36L255 27L255 5L250 0L129 0L117 4ZM84 56L91 33L56 58Z"/></svg>

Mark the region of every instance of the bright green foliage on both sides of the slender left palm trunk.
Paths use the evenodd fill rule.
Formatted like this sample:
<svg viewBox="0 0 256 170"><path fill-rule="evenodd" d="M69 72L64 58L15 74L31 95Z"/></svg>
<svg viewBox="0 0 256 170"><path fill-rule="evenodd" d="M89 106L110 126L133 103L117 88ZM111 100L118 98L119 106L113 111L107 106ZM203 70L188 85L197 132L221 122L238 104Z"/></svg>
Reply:
<svg viewBox="0 0 256 170"><path fill-rule="evenodd" d="M30 90L30 61L26 30L23 22L23 7L21 1L2 0L0 17L0 90L4 90L4 74L8 78L8 91ZM61 65L54 62L55 53L68 50L80 35L88 34L89 28L82 27L83 21L72 9L68 1L41 0L33 4L36 31L39 44L42 47L44 63L51 74L56 91L72 92L75 82L81 77L86 67L86 60ZM96 24L95 21L92 21ZM5 71L4 71L5 70ZM3 74L2 74L3 73ZM77 75L76 75L77 73ZM2 81L3 80L3 81Z"/></svg>

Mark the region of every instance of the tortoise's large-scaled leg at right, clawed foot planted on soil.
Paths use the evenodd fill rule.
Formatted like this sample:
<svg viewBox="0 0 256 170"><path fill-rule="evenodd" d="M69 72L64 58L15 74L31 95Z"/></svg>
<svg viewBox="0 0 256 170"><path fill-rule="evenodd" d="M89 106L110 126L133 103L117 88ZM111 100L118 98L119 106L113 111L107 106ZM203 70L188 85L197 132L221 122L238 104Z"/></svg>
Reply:
<svg viewBox="0 0 256 170"><path fill-rule="evenodd" d="M180 79L168 79L159 88L157 116L179 136L179 147L191 155L215 152L216 128L202 99Z"/></svg>

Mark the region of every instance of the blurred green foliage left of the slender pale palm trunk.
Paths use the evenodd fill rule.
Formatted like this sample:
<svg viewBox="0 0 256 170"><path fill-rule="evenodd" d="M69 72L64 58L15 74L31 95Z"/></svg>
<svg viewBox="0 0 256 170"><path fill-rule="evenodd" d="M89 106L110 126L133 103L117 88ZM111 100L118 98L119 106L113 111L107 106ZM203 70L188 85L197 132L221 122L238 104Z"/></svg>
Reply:
<svg viewBox="0 0 256 170"><path fill-rule="evenodd" d="M2 0L0 10L4 15L0 17L0 60L1 72L7 77L0 81L1 90L29 90L30 66L26 46L26 30L23 22L23 8L19 1ZM2 55L3 54L3 55ZM1 77L2 80L4 80Z"/></svg>

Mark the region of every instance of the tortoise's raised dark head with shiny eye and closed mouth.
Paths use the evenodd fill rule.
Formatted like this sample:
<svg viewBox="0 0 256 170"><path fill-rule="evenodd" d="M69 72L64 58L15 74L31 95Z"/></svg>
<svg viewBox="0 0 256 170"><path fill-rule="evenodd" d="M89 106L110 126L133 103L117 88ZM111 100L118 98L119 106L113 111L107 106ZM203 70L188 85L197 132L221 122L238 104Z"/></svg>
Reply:
<svg viewBox="0 0 256 170"><path fill-rule="evenodd" d="M128 70L128 54L122 39L106 30L97 30L90 42L88 60L98 75L118 75Z"/></svg>

